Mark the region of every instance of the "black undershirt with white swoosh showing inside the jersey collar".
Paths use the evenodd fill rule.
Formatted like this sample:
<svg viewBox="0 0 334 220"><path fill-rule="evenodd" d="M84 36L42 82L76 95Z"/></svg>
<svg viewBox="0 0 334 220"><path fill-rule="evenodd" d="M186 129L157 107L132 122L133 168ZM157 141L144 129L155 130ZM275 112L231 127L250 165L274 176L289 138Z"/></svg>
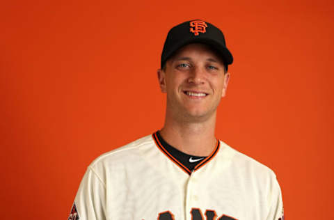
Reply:
<svg viewBox="0 0 334 220"><path fill-rule="evenodd" d="M161 145L172 155L175 159L177 159L181 164L186 166L186 168L189 168L190 171L193 171L193 168L197 164L203 161L203 159L207 157L198 157L194 155L188 155L180 150L177 150L173 146L170 146L160 135L160 132L157 131L157 138L159 139L159 142Z"/></svg>

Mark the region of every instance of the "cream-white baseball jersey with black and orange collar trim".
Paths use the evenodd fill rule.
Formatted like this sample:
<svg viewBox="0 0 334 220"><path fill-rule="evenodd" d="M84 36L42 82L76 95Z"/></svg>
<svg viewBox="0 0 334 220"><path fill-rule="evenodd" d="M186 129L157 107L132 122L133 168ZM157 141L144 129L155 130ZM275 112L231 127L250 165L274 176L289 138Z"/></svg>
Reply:
<svg viewBox="0 0 334 220"><path fill-rule="evenodd" d="M88 166L70 220L282 220L276 175L217 141L189 173L156 134L101 155Z"/></svg>

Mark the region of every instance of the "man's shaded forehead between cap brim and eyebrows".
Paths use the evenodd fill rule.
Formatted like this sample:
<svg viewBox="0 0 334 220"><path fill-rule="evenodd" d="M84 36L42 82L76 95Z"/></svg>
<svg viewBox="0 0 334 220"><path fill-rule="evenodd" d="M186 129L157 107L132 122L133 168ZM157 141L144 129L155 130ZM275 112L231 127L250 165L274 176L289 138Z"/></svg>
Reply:
<svg viewBox="0 0 334 220"><path fill-rule="evenodd" d="M193 43L189 45L185 45L184 47L181 47L180 49L173 54L169 58L170 61L177 60L179 58L202 58L202 59L208 59L211 58L212 60L215 60L216 62L223 64L223 59L221 56L216 52L215 49L210 47L209 45L201 44L201 43Z"/></svg>

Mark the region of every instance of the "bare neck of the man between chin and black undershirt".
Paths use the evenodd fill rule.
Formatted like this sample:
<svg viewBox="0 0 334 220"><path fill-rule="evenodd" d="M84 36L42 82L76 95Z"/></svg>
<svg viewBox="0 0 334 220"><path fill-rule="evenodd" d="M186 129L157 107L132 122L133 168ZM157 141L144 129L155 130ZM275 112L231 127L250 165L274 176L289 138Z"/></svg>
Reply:
<svg viewBox="0 0 334 220"><path fill-rule="evenodd" d="M177 150L189 155L208 156L216 147L214 129L216 113L204 121L189 122L168 118L160 134L164 140Z"/></svg>

